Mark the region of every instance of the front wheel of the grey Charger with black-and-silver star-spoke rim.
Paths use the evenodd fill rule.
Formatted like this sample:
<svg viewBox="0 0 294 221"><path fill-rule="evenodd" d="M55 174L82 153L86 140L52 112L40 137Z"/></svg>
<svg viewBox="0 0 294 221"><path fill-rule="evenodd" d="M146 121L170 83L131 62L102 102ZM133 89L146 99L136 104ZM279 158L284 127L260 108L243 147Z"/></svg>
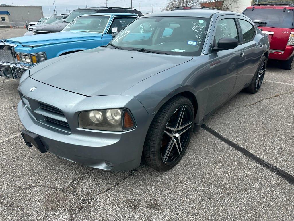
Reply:
<svg viewBox="0 0 294 221"><path fill-rule="evenodd" d="M166 171L182 159L194 125L191 101L183 96L168 100L156 113L148 129L143 154L147 164Z"/></svg>

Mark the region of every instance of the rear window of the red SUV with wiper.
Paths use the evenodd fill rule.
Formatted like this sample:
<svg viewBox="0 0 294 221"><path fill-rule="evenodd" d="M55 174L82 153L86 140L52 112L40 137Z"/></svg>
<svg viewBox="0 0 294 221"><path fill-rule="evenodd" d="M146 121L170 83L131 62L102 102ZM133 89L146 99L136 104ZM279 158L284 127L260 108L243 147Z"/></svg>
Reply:
<svg viewBox="0 0 294 221"><path fill-rule="evenodd" d="M293 10L286 9L246 9L243 14L256 25L273 28L292 28ZM261 22L261 23L260 23ZM266 24L264 24L266 22Z"/></svg>

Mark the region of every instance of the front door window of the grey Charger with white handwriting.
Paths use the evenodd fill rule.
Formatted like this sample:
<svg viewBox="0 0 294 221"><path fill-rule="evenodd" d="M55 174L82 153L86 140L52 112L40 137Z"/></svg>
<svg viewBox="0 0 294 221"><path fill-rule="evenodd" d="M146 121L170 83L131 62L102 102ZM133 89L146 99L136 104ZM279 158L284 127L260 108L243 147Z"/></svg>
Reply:
<svg viewBox="0 0 294 221"><path fill-rule="evenodd" d="M216 25L215 44L221 38L235 38L239 40L238 31L234 19L221 19Z"/></svg>

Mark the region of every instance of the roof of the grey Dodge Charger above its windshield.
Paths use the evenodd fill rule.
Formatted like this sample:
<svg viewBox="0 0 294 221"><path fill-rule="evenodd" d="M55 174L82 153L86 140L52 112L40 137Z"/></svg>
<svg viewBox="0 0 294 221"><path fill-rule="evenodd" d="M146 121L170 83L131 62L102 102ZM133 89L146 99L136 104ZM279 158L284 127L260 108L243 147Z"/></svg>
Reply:
<svg viewBox="0 0 294 221"><path fill-rule="evenodd" d="M202 17L202 18L210 18L213 14L220 13L220 15L241 15L240 13L230 12L230 11L219 11L219 10L210 10L210 9L203 9L203 10L174 10L174 11L163 11L153 14L146 14L142 17L158 17L158 16L183 16L183 17Z"/></svg>

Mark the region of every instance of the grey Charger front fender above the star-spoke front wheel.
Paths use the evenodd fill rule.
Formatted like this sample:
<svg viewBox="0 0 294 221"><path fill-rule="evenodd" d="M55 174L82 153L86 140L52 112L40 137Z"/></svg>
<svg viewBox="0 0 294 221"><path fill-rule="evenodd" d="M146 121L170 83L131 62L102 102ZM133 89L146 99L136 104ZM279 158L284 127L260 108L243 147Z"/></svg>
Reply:
<svg viewBox="0 0 294 221"><path fill-rule="evenodd" d="M182 92L194 95L198 104L195 123L205 115L208 98L208 57L200 56L149 77L126 90L122 95L135 96L149 114L157 112L169 99Z"/></svg>

